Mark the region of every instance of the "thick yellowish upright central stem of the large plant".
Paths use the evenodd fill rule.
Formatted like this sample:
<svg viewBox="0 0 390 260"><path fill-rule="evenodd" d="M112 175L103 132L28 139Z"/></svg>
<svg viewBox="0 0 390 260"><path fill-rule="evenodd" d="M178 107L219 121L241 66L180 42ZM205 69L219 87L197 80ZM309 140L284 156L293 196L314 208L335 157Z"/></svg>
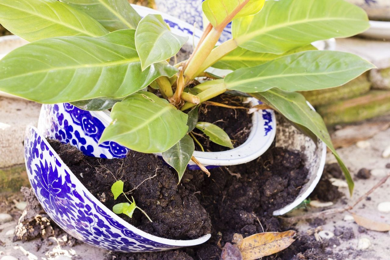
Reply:
<svg viewBox="0 0 390 260"><path fill-rule="evenodd" d="M195 74L215 47L221 34L222 30L216 30L213 28L207 35L206 39L204 39L203 43L199 46L197 52L193 53L191 61L188 61L187 67L184 70L184 77L186 82L189 82L195 78Z"/></svg>

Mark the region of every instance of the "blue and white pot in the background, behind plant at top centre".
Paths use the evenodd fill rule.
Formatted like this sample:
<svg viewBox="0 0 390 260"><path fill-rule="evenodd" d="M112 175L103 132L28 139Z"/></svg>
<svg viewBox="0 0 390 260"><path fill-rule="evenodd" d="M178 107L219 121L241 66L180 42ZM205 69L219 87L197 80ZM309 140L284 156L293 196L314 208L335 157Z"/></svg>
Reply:
<svg viewBox="0 0 390 260"><path fill-rule="evenodd" d="M159 11L179 18L190 25L203 29L202 2L204 0L154 0ZM232 24L223 30L220 41L232 37Z"/></svg>

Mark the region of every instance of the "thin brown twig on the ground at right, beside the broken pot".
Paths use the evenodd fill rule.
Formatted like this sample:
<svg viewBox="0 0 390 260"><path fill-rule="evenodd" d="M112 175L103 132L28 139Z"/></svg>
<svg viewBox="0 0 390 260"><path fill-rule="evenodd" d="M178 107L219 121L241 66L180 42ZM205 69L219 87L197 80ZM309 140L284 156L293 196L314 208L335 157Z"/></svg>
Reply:
<svg viewBox="0 0 390 260"><path fill-rule="evenodd" d="M383 177L374 187L372 187L369 191L367 191L360 198L358 198L355 201L355 203L353 203L352 206L347 206L347 207L344 207L344 208L331 208L331 209L324 210L324 211L321 211L321 212L315 212L315 213L310 213L310 214L296 216L296 217L281 217L281 218L284 221L286 221L287 223L293 224L293 223L297 223L300 220L314 219L316 217L323 217L323 216L326 216L326 215L333 215L333 214L342 213L342 212L345 212L345 211L352 210L356 205L358 205L358 203L360 201L362 201L363 199L367 198L372 192L374 192L376 189L378 189L378 187L383 185L388 180L389 177L390 177L390 174L388 174L387 176Z"/></svg>

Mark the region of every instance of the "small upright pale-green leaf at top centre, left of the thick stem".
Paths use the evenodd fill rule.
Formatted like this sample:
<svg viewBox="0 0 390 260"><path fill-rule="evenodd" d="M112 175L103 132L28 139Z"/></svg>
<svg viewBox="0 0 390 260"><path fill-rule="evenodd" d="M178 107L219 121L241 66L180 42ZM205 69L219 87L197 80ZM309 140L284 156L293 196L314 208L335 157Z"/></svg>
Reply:
<svg viewBox="0 0 390 260"><path fill-rule="evenodd" d="M174 56L187 40L187 36L172 33L160 14L148 14L142 18L135 32L135 46L142 70Z"/></svg>

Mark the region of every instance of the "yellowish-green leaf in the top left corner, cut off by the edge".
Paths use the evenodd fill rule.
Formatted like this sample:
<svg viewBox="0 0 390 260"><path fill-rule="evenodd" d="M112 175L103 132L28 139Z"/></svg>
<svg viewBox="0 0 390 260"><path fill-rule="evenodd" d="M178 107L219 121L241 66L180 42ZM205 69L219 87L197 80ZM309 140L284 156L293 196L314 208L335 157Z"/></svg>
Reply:
<svg viewBox="0 0 390 260"><path fill-rule="evenodd" d="M84 12L55 0L1 0L0 23L30 42L58 36L99 37L108 33Z"/></svg>

